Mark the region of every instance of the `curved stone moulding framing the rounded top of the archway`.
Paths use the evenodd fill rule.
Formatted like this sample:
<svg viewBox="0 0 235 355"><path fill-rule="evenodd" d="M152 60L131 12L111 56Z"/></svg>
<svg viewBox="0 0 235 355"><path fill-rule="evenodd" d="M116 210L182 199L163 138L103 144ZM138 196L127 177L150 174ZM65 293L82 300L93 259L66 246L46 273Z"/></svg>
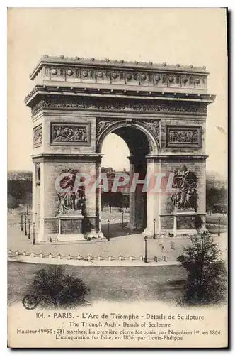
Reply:
<svg viewBox="0 0 235 355"><path fill-rule="evenodd" d="M144 136L147 138L149 143L149 153L158 154L160 150L159 137L156 136L150 129L148 129L147 124L144 124L142 121L132 121L131 119L126 119L122 121L104 121L106 126L103 131L99 132L98 138L96 140L97 153L101 153L103 146L103 141L109 133L115 133L117 129L129 128L129 129L139 129L144 133Z"/></svg>

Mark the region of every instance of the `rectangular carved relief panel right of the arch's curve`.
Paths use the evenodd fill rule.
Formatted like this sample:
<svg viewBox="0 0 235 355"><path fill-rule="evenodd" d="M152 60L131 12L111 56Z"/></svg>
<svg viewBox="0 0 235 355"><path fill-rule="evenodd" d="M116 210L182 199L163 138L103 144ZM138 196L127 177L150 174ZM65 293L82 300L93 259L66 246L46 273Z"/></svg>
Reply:
<svg viewBox="0 0 235 355"><path fill-rule="evenodd" d="M168 148L200 148L202 134L200 126L167 126L166 146Z"/></svg>

